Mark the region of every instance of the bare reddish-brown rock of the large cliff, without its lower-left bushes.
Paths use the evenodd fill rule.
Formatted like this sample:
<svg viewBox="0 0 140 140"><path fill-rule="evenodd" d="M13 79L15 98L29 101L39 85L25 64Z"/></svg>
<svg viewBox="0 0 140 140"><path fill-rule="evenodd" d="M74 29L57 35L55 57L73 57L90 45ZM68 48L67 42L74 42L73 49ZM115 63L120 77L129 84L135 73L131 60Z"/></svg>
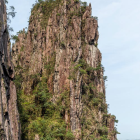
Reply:
<svg viewBox="0 0 140 140"><path fill-rule="evenodd" d="M24 70L19 68L16 75L23 76L21 87L26 96L34 89L30 77L39 75L42 79L43 73L47 77L46 87L53 94L52 102L66 97L61 100L61 116L75 140L99 139L103 135L114 140L113 119L107 114L105 101L102 56L97 47L98 22L91 16L91 4L61 2L49 17L40 11L41 4L38 9L34 7L27 33L23 30L12 48L14 66Z"/></svg>

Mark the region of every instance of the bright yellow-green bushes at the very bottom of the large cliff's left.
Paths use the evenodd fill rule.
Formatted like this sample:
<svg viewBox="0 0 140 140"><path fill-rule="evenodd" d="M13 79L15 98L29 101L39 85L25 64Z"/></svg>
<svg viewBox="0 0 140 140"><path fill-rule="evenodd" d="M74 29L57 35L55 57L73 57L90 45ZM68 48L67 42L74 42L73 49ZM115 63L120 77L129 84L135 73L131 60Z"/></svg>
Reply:
<svg viewBox="0 0 140 140"><path fill-rule="evenodd" d="M35 121L32 121L28 126L30 130L29 139L33 139L35 134L38 134L41 140L64 139L66 135L66 125L62 120L58 122L58 119L59 118L43 119L39 117Z"/></svg>

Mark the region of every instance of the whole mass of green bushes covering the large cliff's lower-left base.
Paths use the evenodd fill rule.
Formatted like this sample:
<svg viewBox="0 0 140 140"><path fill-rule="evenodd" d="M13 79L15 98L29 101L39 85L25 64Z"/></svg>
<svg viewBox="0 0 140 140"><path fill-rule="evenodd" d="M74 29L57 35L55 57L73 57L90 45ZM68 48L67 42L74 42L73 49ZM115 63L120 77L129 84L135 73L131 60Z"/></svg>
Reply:
<svg viewBox="0 0 140 140"><path fill-rule="evenodd" d="M20 94L18 101L20 101L21 107L19 111L22 138L32 140L35 134L38 134L40 139L45 140L65 139L65 137L70 139L72 134L66 132L66 124L62 116L63 110L69 108L67 101L69 94L68 92L62 93L57 104L54 104L51 101L52 94L46 84L46 78L43 78L38 82L33 94L25 95L23 91L18 93L18 95ZM16 86L19 85L16 84ZM62 105L62 101L64 105Z"/></svg>

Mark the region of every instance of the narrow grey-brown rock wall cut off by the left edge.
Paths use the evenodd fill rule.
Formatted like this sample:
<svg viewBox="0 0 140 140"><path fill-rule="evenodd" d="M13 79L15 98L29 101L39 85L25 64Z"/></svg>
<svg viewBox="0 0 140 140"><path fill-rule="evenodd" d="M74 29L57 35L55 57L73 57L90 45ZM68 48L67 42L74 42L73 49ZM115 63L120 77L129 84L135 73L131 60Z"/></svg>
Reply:
<svg viewBox="0 0 140 140"><path fill-rule="evenodd" d="M0 139L18 140L19 114L6 21L6 6L0 0Z"/></svg>

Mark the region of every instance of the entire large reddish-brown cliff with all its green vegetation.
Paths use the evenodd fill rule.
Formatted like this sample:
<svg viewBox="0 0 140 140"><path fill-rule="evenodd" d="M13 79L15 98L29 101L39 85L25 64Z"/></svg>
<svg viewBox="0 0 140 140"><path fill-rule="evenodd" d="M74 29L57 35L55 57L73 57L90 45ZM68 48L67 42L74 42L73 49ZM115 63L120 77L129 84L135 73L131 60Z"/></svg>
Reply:
<svg viewBox="0 0 140 140"><path fill-rule="evenodd" d="M34 6L28 31L12 48L22 139L116 140L98 37L91 5L56 0Z"/></svg>

